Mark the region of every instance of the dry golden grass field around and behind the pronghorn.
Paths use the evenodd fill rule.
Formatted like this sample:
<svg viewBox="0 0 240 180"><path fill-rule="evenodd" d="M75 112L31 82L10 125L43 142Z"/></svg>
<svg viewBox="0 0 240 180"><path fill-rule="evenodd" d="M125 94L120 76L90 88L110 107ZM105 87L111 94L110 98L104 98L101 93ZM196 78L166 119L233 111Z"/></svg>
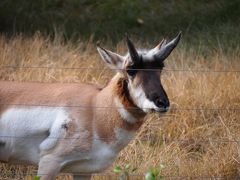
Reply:
<svg viewBox="0 0 240 180"><path fill-rule="evenodd" d="M114 47L110 44L103 47L120 54L127 50L124 41ZM187 46L182 39L162 74L172 110L148 115L137 137L107 173L112 173L116 165L130 164L137 168L130 179L144 179L152 167L161 169L163 179L240 179L240 49L224 53L221 45L218 47L202 53L203 45ZM71 43L38 34L29 38L0 36L0 63L0 79L5 81L90 82L104 86L114 74L100 60L91 40ZM31 179L25 175L35 173L34 167L0 164L0 179ZM60 175L58 179L71 177Z"/></svg>

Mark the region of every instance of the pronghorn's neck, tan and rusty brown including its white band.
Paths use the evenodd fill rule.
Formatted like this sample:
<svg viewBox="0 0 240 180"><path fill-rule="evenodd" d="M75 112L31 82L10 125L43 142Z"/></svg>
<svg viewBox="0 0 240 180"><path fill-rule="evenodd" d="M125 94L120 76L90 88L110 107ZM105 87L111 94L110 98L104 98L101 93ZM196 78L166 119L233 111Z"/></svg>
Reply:
<svg viewBox="0 0 240 180"><path fill-rule="evenodd" d="M106 107L106 109L95 110L95 127L98 136L108 142L117 138L116 131L119 128L131 133L138 130L146 115L131 100L127 82L120 74L115 75L98 94L96 106ZM110 140L108 140L109 137Z"/></svg>

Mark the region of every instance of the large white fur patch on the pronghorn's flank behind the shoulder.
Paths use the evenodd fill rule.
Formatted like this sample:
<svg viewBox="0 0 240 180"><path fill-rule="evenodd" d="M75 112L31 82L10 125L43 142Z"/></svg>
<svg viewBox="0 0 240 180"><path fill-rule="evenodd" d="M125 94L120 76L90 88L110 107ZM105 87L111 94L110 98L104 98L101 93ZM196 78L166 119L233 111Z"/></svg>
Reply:
<svg viewBox="0 0 240 180"><path fill-rule="evenodd" d="M40 149L53 148L64 136L62 125L68 120L63 108L11 108L0 119L0 159L8 157L17 162L37 164ZM1 156L2 155L2 156Z"/></svg>

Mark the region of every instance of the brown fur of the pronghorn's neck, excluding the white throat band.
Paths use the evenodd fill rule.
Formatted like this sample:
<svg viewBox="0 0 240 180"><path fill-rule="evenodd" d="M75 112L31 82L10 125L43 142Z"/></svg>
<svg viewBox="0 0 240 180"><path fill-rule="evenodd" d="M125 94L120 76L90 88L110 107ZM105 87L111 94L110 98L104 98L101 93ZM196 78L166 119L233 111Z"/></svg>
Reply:
<svg viewBox="0 0 240 180"><path fill-rule="evenodd" d="M99 109L95 111L95 125L97 127L97 133L101 139L105 142L112 142L115 138L114 129L115 127L123 128L128 131L136 131L142 125L141 119L145 116L145 113L142 110L138 109L132 101L127 99L124 94L123 89L123 78L120 75L116 75L109 85L99 92L95 103L97 107L109 106L112 108L109 109ZM138 122L131 124L126 120L123 120L119 113L118 109L114 103L114 98L118 97L122 104L125 106L125 109L136 118L139 119ZM100 100L101 99L101 100Z"/></svg>

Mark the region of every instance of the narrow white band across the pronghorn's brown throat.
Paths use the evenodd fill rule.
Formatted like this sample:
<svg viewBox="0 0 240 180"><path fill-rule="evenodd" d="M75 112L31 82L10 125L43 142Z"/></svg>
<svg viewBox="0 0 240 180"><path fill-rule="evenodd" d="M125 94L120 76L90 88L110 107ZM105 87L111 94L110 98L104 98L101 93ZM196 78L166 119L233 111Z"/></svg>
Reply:
<svg viewBox="0 0 240 180"><path fill-rule="evenodd" d="M132 124L137 122L137 119L131 113L128 112L128 110L120 102L119 98L116 97L114 99L114 101L118 108L118 112L119 112L121 118L123 118L125 121L132 123Z"/></svg>

